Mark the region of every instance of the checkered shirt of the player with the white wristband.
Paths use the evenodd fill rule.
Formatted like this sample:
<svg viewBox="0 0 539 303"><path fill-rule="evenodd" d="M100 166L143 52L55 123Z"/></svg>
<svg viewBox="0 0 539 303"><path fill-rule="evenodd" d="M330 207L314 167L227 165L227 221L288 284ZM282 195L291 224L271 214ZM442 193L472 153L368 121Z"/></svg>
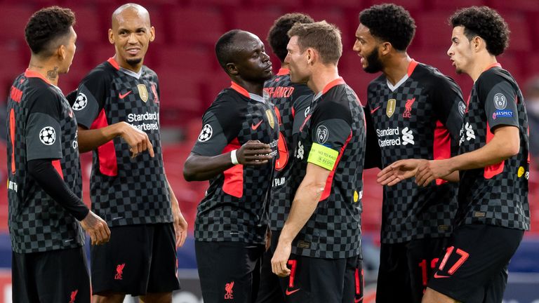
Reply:
<svg viewBox="0 0 539 303"><path fill-rule="evenodd" d="M259 140L270 144L277 156L279 123L273 105L237 84L222 90L202 124L194 154L217 156ZM270 161L263 166L239 164L213 177L197 208L195 240L265 243L273 172L274 161Z"/></svg>

